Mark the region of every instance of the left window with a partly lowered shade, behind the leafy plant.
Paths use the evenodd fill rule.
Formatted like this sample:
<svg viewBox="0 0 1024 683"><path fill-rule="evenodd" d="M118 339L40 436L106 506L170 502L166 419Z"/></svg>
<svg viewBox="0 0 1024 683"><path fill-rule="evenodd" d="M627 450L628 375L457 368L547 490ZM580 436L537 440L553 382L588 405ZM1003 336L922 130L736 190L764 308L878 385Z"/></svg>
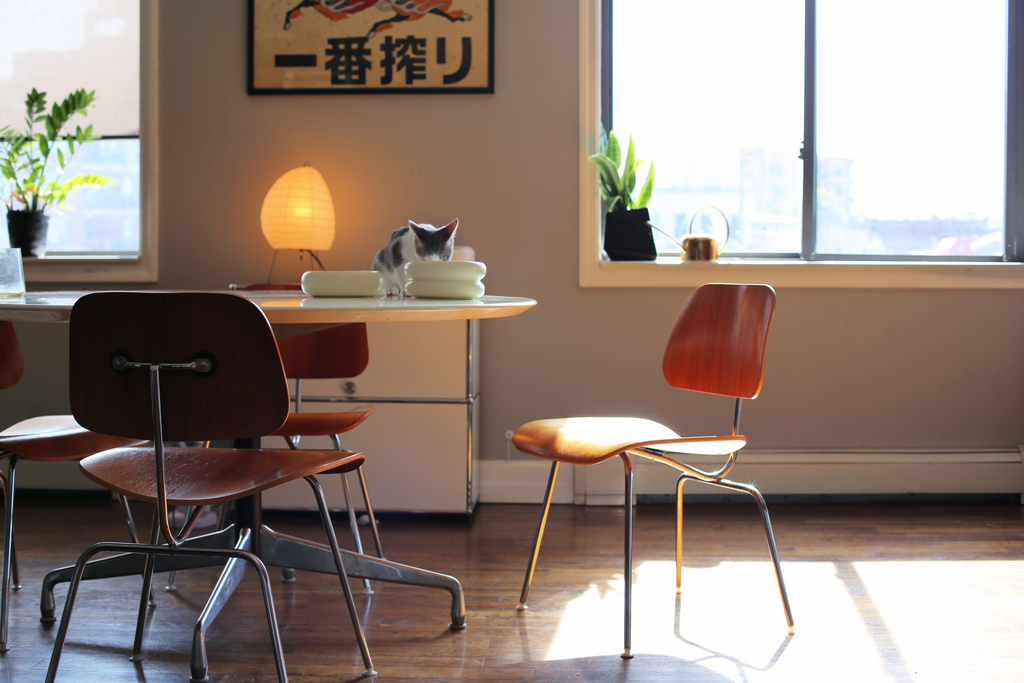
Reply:
<svg viewBox="0 0 1024 683"><path fill-rule="evenodd" d="M108 185L73 190L65 203L70 209L47 211L46 256L26 263L30 281L156 280L155 173L143 177L156 136L142 135L152 129L155 106L140 76L155 54L157 7L142 5L0 0L0 12L17 17L0 25L0 125L24 128L25 94L32 88L47 93L47 109L78 88L95 90L88 116L70 126L92 125L102 139L82 145L66 175L111 177ZM6 245L0 230L0 246Z"/></svg>

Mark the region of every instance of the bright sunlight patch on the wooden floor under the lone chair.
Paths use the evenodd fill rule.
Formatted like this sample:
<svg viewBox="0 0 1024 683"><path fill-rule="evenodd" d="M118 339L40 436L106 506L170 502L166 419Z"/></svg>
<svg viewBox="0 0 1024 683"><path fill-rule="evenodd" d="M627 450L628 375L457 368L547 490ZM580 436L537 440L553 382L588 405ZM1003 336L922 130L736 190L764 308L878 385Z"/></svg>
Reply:
<svg viewBox="0 0 1024 683"><path fill-rule="evenodd" d="M633 661L669 655L733 681L1024 680L1024 562L791 562L783 574L792 638L770 562L686 568L678 596L671 561L637 565ZM1020 666L986 668L993 648L1004 661L1016 648ZM545 659L622 649L620 575L564 606Z"/></svg>

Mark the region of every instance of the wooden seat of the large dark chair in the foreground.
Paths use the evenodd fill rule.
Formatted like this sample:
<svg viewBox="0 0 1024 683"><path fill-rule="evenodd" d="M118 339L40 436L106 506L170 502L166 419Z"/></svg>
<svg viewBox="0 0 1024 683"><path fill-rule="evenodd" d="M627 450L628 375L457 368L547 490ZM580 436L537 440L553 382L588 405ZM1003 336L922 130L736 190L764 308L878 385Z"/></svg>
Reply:
<svg viewBox="0 0 1024 683"><path fill-rule="evenodd" d="M164 450L169 505L237 501L326 471L348 472L361 453L169 447ZM79 467L96 483L128 498L157 502L153 449L117 449L89 456Z"/></svg>

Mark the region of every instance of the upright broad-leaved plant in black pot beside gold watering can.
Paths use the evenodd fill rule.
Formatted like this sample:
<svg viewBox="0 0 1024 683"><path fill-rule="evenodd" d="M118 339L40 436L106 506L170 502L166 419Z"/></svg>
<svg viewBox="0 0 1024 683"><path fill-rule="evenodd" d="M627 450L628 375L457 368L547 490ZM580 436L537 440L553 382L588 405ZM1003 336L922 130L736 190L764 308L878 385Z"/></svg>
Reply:
<svg viewBox="0 0 1024 683"><path fill-rule="evenodd" d="M601 128L601 153L590 157L597 164L604 201L604 251L612 261L653 261L657 257L650 231L647 202L654 189L654 163L651 162L640 194L634 196L637 169L643 161L636 158L633 136L622 159L622 148L613 132ZM622 165L622 171L620 171Z"/></svg>

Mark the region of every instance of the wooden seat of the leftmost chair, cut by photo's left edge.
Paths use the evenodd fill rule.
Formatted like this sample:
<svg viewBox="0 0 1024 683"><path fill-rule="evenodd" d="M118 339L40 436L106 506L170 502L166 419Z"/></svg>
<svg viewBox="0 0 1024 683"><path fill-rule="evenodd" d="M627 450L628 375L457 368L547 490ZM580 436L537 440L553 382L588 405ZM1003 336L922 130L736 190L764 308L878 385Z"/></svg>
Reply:
<svg viewBox="0 0 1024 683"><path fill-rule="evenodd" d="M145 443L141 439L97 434L71 415L45 415L23 420L0 432L0 450L36 462L78 460L93 453Z"/></svg>

